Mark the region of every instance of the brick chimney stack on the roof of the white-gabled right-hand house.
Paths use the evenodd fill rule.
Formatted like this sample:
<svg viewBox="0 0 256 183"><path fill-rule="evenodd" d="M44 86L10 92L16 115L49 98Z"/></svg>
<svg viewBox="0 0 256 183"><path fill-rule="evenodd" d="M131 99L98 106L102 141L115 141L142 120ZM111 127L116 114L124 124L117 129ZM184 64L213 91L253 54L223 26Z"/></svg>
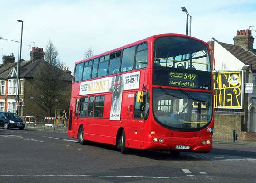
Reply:
<svg viewBox="0 0 256 183"><path fill-rule="evenodd" d="M237 30L237 36L233 38L234 45L241 46L247 51L252 50L253 48L253 36L251 30Z"/></svg>

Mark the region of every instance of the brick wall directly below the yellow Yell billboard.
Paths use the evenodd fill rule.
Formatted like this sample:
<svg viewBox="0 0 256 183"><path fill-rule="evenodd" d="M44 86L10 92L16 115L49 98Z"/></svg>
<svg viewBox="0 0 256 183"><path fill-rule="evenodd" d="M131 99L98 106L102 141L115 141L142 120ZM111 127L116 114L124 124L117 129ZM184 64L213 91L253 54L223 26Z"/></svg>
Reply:
<svg viewBox="0 0 256 183"><path fill-rule="evenodd" d="M237 113L215 113L213 138L215 140L232 140L233 130L236 130L237 137L239 139L241 134L242 118L243 115Z"/></svg>

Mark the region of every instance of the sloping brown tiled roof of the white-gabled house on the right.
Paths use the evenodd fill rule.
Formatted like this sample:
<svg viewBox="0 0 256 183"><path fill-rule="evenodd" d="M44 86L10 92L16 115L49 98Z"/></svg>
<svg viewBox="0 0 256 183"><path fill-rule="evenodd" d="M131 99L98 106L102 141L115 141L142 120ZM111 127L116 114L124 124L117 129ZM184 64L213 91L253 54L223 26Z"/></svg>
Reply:
<svg viewBox="0 0 256 183"><path fill-rule="evenodd" d="M221 43L223 48L229 51L232 55L234 55L237 59L243 62L245 65L252 65L252 70L256 71L256 50L253 49L252 51L247 51L241 46L236 46L233 44Z"/></svg>

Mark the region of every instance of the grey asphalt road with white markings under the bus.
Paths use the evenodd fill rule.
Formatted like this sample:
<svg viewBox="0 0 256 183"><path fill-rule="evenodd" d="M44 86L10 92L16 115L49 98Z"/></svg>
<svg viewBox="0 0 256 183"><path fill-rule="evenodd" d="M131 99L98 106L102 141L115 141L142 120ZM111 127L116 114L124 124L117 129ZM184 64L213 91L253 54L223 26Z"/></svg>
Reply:
<svg viewBox="0 0 256 183"><path fill-rule="evenodd" d="M0 183L256 183L256 146L215 144L209 154L80 145L65 133L0 128Z"/></svg>

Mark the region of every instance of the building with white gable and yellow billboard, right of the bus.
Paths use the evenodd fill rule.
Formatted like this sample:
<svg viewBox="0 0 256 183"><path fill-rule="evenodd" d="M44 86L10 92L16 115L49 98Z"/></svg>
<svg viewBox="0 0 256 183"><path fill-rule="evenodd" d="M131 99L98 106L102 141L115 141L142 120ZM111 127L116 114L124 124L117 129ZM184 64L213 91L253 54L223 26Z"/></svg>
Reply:
<svg viewBox="0 0 256 183"><path fill-rule="evenodd" d="M256 49L251 30L238 30L234 44L212 38L215 55L216 139L256 141ZM252 84L252 93L245 92ZM252 138L255 137L255 138Z"/></svg>

